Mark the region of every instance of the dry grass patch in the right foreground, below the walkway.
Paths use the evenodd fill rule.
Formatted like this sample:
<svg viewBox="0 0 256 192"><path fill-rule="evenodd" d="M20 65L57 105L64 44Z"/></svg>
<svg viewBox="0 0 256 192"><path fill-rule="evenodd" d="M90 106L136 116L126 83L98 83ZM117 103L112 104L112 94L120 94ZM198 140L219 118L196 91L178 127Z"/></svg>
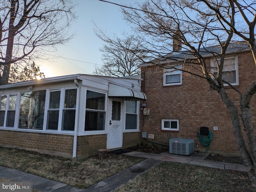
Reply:
<svg viewBox="0 0 256 192"><path fill-rule="evenodd" d="M162 162L113 192L255 192L247 174Z"/></svg>

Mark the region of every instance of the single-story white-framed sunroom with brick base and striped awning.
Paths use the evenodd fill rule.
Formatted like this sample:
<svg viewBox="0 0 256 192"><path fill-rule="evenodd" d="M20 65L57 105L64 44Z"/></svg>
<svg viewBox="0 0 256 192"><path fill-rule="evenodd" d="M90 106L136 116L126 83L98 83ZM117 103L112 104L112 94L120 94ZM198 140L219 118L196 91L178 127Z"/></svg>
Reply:
<svg viewBox="0 0 256 192"><path fill-rule="evenodd" d="M66 75L0 86L0 145L88 158L138 144L137 77Z"/></svg>

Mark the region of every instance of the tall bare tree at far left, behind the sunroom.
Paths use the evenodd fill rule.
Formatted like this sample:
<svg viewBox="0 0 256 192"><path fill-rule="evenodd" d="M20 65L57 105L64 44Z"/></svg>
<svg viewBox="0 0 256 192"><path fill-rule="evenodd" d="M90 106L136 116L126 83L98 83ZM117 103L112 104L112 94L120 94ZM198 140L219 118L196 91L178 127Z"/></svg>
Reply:
<svg viewBox="0 0 256 192"><path fill-rule="evenodd" d="M73 8L69 0L0 1L0 85L8 83L12 63L43 57L47 47L72 38Z"/></svg>

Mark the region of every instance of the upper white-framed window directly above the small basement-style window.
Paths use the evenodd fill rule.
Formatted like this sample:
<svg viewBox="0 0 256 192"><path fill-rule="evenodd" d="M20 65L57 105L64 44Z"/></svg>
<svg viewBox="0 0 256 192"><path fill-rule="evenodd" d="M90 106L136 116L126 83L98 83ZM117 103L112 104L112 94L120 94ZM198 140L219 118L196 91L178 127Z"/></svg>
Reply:
<svg viewBox="0 0 256 192"><path fill-rule="evenodd" d="M174 66L176 69L164 69L164 80L163 85L182 85L182 71L177 69L182 69L182 65Z"/></svg>

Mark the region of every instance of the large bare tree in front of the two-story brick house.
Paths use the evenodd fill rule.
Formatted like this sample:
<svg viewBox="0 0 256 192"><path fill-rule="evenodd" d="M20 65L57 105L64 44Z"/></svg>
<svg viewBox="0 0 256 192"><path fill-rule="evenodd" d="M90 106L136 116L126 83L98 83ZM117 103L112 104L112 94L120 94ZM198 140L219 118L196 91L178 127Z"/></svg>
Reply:
<svg viewBox="0 0 256 192"><path fill-rule="evenodd" d="M139 40L148 46L144 49L148 54L145 62L170 68L170 61L177 61L182 68L174 67L176 70L205 79L210 87L217 91L230 114L238 150L248 167L250 181L255 182L256 138L250 102L256 92L256 81L245 91L239 90L225 80L223 69L230 45L234 45L238 40L248 45L256 63L256 2L146 0L136 8L118 6L122 7L126 20L134 26L133 30L137 32ZM182 49L172 50L172 47L181 48L181 44ZM207 49L213 45L216 45L218 51ZM239 44L236 45L239 47ZM206 53L216 59L214 72L204 58ZM236 91L240 98L238 101L228 95L225 84ZM235 103L240 105L236 106ZM246 132L245 136L242 129Z"/></svg>

